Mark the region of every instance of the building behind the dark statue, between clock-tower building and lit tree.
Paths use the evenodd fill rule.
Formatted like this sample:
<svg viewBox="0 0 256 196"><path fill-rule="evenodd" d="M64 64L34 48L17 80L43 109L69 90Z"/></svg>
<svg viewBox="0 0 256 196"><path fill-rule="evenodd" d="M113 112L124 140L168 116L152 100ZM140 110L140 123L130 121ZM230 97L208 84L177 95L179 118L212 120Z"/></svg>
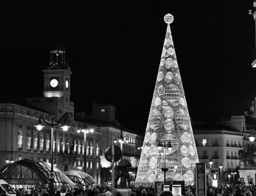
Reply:
<svg viewBox="0 0 256 196"><path fill-rule="evenodd" d="M141 146L143 145L143 137L139 136L132 130L124 128L116 121L116 108L110 104L93 104L94 125L99 127L98 131L101 133L101 166L102 166L102 182L108 183L111 181L111 163L105 159L105 150L108 146L115 144L121 149L122 158L129 160L132 168L129 168L130 180L135 181L135 174L137 173ZM120 144L118 139L124 137L126 142ZM117 141L114 143L114 141ZM116 163L118 164L118 162Z"/></svg>

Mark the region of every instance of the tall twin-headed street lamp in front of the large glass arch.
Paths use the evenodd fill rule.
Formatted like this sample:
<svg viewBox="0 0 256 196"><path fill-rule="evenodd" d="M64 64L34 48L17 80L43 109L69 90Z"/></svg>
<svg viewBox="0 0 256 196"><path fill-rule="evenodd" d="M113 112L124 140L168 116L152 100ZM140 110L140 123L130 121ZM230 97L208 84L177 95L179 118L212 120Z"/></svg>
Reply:
<svg viewBox="0 0 256 196"><path fill-rule="evenodd" d="M62 121L67 121L67 117L69 117L69 113L66 112L57 122L53 121L53 117L51 119L51 122L46 121L43 117L40 117L38 120L38 124L34 125L37 130L42 130L45 126L42 125L42 121L45 122L46 125L50 126L50 153L51 153L51 163L50 163L50 173L49 173L49 179L50 179L50 184L49 184L49 195L54 196L55 195L55 189L54 189L54 173L53 173L53 128L57 128L58 125L61 124ZM60 127L62 130L67 131L69 126L68 125L63 125Z"/></svg>

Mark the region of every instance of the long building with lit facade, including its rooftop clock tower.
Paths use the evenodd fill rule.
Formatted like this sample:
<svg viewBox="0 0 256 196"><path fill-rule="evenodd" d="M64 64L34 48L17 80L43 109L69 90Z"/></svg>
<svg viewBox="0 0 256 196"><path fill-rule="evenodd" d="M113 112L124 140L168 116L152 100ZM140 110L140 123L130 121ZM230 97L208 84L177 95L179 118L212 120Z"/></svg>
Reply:
<svg viewBox="0 0 256 196"><path fill-rule="evenodd" d="M70 101L72 72L66 63L62 45L50 51L50 66L43 73L44 97L26 98L26 103L4 97L0 100L0 167L6 161L24 158L51 162L50 152L53 150L53 164L57 168L62 171L83 170L86 164L86 173L100 184L101 133L96 126L74 120L74 103ZM50 139L50 126L45 125L40 131L34 127L39 118L49 123L52 119L57 122L66 113L72 124L66 132L54 127L53 141ZM78 133L78 128L94 128L95 131L87 134L85 142L84 133ZM53 149L50 149L51 142Z"/></svg>

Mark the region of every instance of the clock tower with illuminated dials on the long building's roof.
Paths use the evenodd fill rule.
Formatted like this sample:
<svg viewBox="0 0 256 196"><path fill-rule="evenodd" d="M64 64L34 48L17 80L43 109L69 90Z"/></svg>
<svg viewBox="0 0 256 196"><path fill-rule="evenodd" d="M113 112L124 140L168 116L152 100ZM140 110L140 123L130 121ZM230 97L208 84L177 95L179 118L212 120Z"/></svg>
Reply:
<svg viewBox="0 0 256 196"><path fill-rule="evenodd" d="M74 103L70 101L70 76L72 74L63 44L55 44L50 50L50 66L43 70L43 98L26 98L30 104L37 106L56 117L69 112L74 116Z"/></svg>

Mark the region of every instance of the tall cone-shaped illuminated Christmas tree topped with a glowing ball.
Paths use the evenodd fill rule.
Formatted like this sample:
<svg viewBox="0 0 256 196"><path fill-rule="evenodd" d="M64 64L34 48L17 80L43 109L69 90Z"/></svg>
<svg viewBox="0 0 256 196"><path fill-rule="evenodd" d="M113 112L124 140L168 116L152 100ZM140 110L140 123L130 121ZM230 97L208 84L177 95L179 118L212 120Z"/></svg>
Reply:
<svg viewBox="0 0 256 196"><path fill-rule="evenodd" d="M164 181L161 170L164 167L168 169L166 181L184 180L187 185L194 183L198 156L170 32L172 22L173 15L165 15L167 31L140 154L136 187ZM160 149L159 143L170 143L172 148Z"/></svg>

